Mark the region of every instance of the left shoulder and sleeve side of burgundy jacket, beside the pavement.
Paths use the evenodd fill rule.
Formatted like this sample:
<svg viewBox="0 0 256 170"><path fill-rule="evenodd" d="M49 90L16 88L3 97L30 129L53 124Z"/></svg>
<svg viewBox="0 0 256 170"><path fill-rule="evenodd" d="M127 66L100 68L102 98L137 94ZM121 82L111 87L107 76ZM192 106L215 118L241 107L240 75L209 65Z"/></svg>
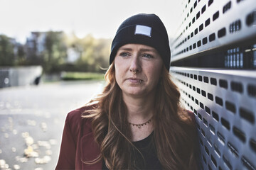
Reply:
<svg viewBox="0 0 256 170"><path fill-rule="evenodd" d="M102 162L88 165L100 155L100 147L94 140L91 122L81 118L90 106L68 113L60 146L60 156L55 169L102 169ZM82 162L83 161L83 162Z"/></svg>

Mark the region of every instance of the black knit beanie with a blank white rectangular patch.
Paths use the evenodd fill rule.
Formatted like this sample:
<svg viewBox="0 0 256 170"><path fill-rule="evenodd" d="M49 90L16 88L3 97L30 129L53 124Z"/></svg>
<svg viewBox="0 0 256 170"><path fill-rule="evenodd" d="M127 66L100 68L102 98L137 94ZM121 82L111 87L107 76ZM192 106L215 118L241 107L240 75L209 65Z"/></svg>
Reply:
<svg viewBox="0 0 256 170"><path fill-rule="evenodd" d="M112 41L110 64L114 61L119 47L131 43L154 47L161 55L164 66L169 70L171 60L169 38L164 23L158 16L139 13L127 18L119 26Z"/></svg>

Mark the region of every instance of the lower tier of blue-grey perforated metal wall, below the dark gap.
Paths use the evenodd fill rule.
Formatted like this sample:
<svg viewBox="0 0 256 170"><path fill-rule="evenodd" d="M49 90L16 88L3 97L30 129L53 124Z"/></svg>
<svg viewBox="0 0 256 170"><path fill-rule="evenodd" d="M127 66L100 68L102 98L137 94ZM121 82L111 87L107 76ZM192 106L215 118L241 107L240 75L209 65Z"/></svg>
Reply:
<svg viewBox="0 0 256 170"><path fill-rule="evenodd" d="M196 116L202 169L255 169L256 74L173 69L183 103Z"/></svg>

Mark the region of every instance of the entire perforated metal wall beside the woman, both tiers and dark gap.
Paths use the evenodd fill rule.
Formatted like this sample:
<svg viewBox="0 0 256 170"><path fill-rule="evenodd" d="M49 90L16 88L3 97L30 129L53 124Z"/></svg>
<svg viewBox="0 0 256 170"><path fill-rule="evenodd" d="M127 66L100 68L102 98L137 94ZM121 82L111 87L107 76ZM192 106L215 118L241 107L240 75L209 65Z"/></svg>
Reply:
<svg viewBox="0 0 256 170"><path fill-rule="evenodd" d="M256 1L183 1L171 51L201 169L256 169Z"/></svg>

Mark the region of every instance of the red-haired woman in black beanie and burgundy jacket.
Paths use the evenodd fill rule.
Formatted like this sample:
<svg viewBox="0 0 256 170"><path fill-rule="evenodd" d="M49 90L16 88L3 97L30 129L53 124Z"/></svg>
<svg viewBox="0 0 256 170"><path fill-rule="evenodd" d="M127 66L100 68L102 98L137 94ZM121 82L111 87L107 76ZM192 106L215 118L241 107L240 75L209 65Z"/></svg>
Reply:
<svg viewBox="0 0 256 170"><path fill-rule="evenodd" d="M127 18L104 91L67 115L56 169L196 169L193 114L180 106L170 57L158 16Z"/></svg>

